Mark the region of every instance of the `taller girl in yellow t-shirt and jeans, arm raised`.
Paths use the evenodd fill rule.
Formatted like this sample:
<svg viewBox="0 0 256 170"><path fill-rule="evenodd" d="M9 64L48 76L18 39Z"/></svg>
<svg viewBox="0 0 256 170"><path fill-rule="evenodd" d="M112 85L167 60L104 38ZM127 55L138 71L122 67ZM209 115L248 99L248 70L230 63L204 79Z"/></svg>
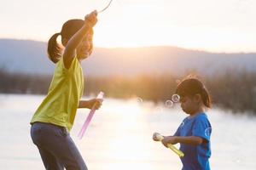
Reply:
<svg viewBox="0 0 256 170"><path fill-rule="evenodd" d="M69 132L78 108L99 109L98 99L80 100L84 91L84 76L80 62L92 53L93 26L97 12L84 20L67 20L60 33L48 42L49 59L55 73L49 92L32 116L31 136L37 145L46 169L87 169ZM61 36L61 43L56 41Z"/></svg>

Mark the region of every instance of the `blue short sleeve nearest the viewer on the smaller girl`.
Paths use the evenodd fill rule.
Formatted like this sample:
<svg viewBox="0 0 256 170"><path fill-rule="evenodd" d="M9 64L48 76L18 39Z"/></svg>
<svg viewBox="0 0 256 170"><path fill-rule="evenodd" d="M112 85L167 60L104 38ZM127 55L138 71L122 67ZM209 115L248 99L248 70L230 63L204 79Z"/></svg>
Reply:
<svg viewBox="0 0 256 170"><path fill-rule="evenodd" d="M207 116L199 116L193 125L192 135L210 141L212 127Z"/></svg>

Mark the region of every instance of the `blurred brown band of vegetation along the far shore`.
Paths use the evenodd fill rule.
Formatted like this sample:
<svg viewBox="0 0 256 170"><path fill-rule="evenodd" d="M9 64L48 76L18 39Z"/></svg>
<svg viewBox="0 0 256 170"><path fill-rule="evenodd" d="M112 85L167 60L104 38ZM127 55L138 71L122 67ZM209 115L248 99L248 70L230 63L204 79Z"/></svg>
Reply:
<svg viewBox="0 0 256 170"><path fill-rule="evenodd" d="M194 71L193 71L194 72ZM135 77L85 77L84 95L103 91L106 96L119 99L140 97L155 103L171 99L177 83L187 77L172 74L140 75ZM190 74L191 75L191 74ZM252 112L256 115L256 73L229 69L212 76L194 72L207 86L213 105L233 112ZM0 69L1 94L47 94L51 76L10 73Z"/></svg>

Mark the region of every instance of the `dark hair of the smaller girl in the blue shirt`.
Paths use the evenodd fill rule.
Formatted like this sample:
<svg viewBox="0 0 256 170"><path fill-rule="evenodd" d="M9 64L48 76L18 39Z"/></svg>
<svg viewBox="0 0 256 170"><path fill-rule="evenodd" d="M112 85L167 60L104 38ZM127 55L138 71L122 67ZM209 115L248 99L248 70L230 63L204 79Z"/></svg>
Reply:
<svg viewBox="0 0 256 170"><path fill-rule="evenodd" d="M200 94L203 104L208 108L211 107L212 102L210 95L205 85L197 78L186 78L177 85L176 94L181 97L192 97L195 94Z"/></svg>

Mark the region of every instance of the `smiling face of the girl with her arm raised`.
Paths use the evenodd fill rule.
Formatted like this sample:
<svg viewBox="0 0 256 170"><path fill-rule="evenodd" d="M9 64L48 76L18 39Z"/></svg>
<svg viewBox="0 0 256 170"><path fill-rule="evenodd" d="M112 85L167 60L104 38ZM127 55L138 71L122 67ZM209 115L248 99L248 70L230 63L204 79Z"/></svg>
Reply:
<svg viewBox="0 0 256 170"><path fill-rule="evenodd" d="M84 40L80 42L77 48L77 54L79 59L86 59L92 53L92 34L87 34Z"/></svg>

